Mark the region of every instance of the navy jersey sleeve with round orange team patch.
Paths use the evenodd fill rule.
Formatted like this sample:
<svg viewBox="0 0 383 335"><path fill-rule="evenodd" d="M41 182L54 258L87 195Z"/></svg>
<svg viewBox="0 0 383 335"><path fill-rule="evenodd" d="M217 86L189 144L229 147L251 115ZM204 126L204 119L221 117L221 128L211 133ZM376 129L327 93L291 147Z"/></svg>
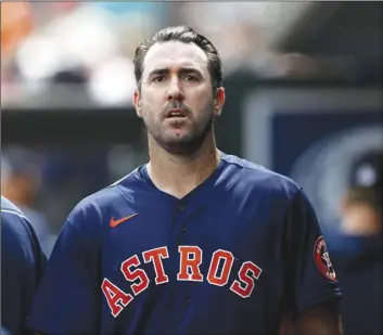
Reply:
<svg viewBox="0 0 383 335"><path fill-rule="evenodd" d="M316 212L302 190L286 218L285 296L294 315L317 304L342 297L336 273Z"/></svg>

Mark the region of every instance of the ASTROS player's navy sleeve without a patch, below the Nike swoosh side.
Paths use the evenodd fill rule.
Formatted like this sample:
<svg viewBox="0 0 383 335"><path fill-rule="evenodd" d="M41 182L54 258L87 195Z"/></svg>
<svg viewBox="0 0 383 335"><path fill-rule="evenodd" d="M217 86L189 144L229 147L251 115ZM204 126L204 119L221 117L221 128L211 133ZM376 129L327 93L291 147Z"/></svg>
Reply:
<svg viewBox="0 0 383 335"><path fill-rule="evenodd" d="M28 326L56 334L97 334L100 311L98 245L92 231L67 220L35 294Z"/></svg>

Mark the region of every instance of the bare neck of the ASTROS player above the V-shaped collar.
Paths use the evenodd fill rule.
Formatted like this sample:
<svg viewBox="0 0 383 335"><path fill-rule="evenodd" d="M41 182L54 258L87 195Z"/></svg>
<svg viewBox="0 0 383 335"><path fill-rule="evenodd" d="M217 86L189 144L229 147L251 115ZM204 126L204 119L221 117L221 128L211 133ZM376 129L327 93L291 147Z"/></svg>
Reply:
<svg viewBox="0 0 383 335"><path fill-rule="evenodd" d="M179 198L206 180L219 163L213 133L190 155L171 154L150 137L148 173L152 182L158 190Z"/></svg>

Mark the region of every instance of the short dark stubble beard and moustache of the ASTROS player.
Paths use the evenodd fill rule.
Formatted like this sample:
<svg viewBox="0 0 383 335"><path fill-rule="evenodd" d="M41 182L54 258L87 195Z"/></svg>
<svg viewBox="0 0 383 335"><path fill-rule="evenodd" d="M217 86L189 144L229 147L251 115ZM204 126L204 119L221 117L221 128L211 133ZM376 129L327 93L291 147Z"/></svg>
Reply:
<svg viewBox="0 0 383 335"><path fill-rule="evenodd" d="M166 118L166 114L170 109L182 109L187 113L189 117L187 126L189 128L189 131L182 134L181 137L168 133L165 129L164 120ZM150 134L161 147L163 147L173 155L192 155L202 146L205 139L213 130L213 102L203 112L203 117L196 120L192 119L193 114L191 113L191 111L181 102L177 101L171 102L169 105L167 105L162 111L158 118L155 118L152 112L148 112L143 113L143 115L146 115L146 117L144 117L144 125L148 134ZM192 125L190 125L191 121ZM178 123L179 125L177 125L177 121L175 120L173 126L176 128L177 126L184 127L181 125L183 121Z"/></svg>

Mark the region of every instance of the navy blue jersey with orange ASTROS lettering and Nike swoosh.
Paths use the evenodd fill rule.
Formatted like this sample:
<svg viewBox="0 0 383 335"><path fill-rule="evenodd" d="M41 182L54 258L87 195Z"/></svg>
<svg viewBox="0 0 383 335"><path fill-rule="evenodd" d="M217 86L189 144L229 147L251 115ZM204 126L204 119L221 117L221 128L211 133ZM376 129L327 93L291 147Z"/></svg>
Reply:
<svg viewBox="0 0 383 335"><path fill-rule="evenodd" d="M182 199L145 166L71 212L36 294L46 334L275 334L341 295L315 212L290 179L235 156Z"/></svg>

